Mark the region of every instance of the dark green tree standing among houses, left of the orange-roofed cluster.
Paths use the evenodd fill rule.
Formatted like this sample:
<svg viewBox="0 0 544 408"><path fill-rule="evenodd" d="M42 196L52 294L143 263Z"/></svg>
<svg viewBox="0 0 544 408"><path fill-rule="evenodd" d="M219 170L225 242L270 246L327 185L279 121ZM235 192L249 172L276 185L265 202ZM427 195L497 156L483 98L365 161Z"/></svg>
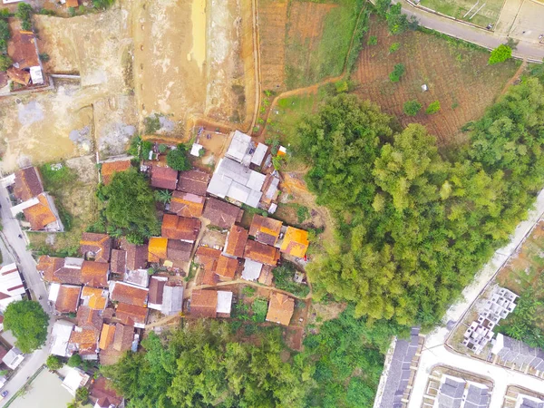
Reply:
<svg viewBox="0 0 544 408"><path fill-rule="evenodd" d="M145 238L159 232L153 191L137 170L115 173L102 194L107 199L106 217L110 227L121 229L130 242L143 243Z"/></svg>

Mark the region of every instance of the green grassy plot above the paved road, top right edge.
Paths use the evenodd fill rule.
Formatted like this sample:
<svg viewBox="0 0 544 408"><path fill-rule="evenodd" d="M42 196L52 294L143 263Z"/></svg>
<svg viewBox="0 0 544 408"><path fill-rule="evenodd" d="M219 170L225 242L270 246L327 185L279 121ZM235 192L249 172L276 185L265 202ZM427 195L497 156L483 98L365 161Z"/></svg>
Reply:
<svg viewBox="0 0 544 408"><path fill-rule="evenodd" d="M420 4L443 15L485 27L497 22L504 0L422 0Z"/></svg>

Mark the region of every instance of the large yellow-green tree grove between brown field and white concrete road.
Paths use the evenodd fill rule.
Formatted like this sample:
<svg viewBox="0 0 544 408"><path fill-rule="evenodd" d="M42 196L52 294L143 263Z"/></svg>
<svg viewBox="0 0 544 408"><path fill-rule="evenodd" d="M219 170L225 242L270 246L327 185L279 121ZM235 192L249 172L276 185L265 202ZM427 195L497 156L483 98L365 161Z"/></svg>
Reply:
<svg viewBox="0 0 544 408"><path fill-rule="evenodd" d="M313 164L308 187L338 215L341 238L307 267L316 296L353 301L371 320L440 320L544 184L543 110L530 78L448 159L422 126L395 133L377 107L345 94L302 121L294 151Z"/></svg>

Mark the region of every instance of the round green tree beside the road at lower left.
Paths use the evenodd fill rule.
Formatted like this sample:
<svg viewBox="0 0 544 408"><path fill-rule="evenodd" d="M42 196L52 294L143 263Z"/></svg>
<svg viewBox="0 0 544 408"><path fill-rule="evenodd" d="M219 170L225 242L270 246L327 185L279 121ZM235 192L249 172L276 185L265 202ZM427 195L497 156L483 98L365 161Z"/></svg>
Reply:
<svg viewBox="0 0 544 408"><path fill-rule="evenodd" d="M44 308L33 300L19 300L5 308L4 328L11 330L15 345L26 354L40 348L47 340L49 316Z"/></svg>

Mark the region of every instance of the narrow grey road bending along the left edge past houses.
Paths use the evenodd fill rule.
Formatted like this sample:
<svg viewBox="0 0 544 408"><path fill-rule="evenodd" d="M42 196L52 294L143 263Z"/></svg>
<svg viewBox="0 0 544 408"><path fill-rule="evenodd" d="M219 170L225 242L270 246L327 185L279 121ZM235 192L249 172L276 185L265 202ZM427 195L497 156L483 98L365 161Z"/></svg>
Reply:
<svg viewBox="0 0 544 408"><path fill-rule="evenodd" d="M2 238L5 240L5 244L8 247L7 249L12 253L12 256L15 257L15 262L17 263L19 270L23 273L26 287L30 290L34 299L37 299L38 296L42 296L40 303L44 307L44 310L51 316L51 309L47 305L47 291L45 290L44 282L36 270L34 258L30 252L26 250L26 242L24 239L18 237L19 234L22 234L22 231L19 227L19 222L12 218L7 197L7 189L0 185L0 204L2 205L0 213L2 215L2 225L4 226ZM53 318L50 320L49 335L51 335L52 324ZM14 395L23 387L26 383L26 379L29 376L32 376L38 368L45 363L49 350L49 335L47 345L40 350L36 350L32 355L26 356L24 362L19 366L17 373L7 384L5 384L2 391L7 390L9 395ZM4 401L0 402L0 407L4 406L9 399L8 396Z"/></svg>

